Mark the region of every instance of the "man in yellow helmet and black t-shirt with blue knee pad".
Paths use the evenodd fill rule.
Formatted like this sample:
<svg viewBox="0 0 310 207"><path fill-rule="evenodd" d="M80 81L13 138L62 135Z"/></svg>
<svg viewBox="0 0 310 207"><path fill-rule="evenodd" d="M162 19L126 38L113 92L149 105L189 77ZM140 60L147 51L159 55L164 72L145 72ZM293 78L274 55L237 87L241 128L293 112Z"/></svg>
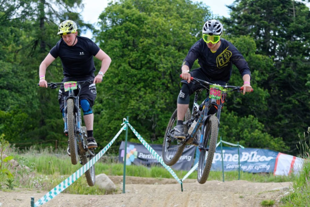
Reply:
<svg viewBox="0 0 310 207"><path fill-rule="evenodd" d="M77 30L78 27L72 20L65 20L60 23L57 34L61 36L61 39L50 50L39 67L39 86L47 88L46 69L57 57L60 57L63 65L64 78L62 82L92 80L92 83L82 84L80 91L80 105L87 128L87 146L90 149L98 146L93 137L94 114L91 109L97 95L95 83L101 83L102 77L109 68L111 58L89 38L78 36ZM93 56L102 62L100 71L96 76L94 74L96 68ZM68 96L68 93L64 91L63 86L60 87L58 101L63 116L64 103L62 97ZM70 156L69 141L67 153Z"/></svg>

